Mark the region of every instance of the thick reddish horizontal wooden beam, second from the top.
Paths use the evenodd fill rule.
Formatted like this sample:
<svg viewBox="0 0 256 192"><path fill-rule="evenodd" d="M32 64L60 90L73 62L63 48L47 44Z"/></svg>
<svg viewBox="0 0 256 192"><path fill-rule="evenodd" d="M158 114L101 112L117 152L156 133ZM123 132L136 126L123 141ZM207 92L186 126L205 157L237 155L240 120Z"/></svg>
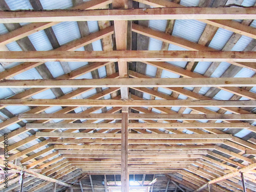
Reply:
<svg viewBox="0 0 256 192"><path fill-rule="evenodd" d="M243 51L1 51L0 62L48 61L217 61L256 62L255 52Z"/></svg>

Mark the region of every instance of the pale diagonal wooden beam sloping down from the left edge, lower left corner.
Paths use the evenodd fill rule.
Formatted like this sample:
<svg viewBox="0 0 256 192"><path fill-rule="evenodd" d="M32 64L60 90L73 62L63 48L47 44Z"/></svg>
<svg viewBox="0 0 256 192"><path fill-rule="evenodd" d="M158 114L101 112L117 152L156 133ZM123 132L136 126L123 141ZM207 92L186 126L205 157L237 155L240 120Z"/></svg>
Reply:
<svg viewBox="0 0 256 192"><path fill-rule="evenodd" d="M56 180L56 179L53 179L53 178L50 178L50 177L47 177L47 176L44 176L44 175L35 173L35 172L33 172L32 170L30 170L30 169L26 169L26 168L23 168L23 167L14 165L14 164L12 164L12 163L10 163L10 162L8 162L8 161L4 161L4 160L1 160L1 159L0 159L0 165L1 165L1 166L5 167L5 164L6 164L6 163L7 163L8 167L13 168L13 169L16 169L16 170L19 170L19 171L23 170L23 172L26 172L26 173L32 175L33 177L37 177L37 178L42 179L42 180L54 182L54 183L57 183L57 184L59 184L59 185L63 185L63 186L67 186L67 187L71 187L71 186L72 186L72 185L67 184L67 183L65 183L65 182L58 181L58 180Z"/></svg>

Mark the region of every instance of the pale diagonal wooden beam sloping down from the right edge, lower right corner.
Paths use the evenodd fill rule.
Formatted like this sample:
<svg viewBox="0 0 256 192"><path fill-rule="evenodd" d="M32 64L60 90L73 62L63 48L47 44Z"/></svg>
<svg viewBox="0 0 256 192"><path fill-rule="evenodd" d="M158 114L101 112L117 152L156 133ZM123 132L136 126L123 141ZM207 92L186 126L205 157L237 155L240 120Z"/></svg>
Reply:
<svg viewBox="0 0 256 192"><path fill-rule="evenodd" d="M221 176L221 177L219 177L219 178L217 178L217 179L211 180L211 181L207 182L206 184L204 184L203 186L199 187L198 189L194 190L194 192L198 192L198 191L200 191L200 190L206 188L209 184L217 183L217 182L219 182L219 181L226 180L226 179L228 179L228 178L237 176L237 175L239 175L240 173L246 173L246 172L248 172L249 170L253 170L253 169L255 169L255 168L256 168L256 163L252 163L252 164L250 164L250 165L248 165L248 166L246 166L246 167L243 167L243 168L241 168L241 169L239 169L239 170L236 170L236 171L234 171L234 172L232 172L232 173L229 173L229 174L226 174L226 175L224 175L224 176Z"/></svg>

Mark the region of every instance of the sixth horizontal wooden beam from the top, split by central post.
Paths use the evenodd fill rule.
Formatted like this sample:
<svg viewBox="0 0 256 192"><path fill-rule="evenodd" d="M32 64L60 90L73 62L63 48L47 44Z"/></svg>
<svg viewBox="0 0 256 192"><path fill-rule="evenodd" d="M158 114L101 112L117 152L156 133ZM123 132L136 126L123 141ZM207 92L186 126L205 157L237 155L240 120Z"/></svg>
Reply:
<svg viewBox="0 0 256 192"><path fill-rule="evenodd" d="M128 123L130 129L168 128L168 129L249 129L250 123ZM121 123L27 123L27 129L118 129Z"/></svg>

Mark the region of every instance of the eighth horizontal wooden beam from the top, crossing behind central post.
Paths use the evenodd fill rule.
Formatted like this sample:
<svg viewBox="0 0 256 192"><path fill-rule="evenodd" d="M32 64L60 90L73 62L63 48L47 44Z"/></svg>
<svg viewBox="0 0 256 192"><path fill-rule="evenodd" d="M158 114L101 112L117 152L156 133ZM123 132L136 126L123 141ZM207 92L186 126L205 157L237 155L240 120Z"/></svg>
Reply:
<svg viewBox="0 0 256 192"><path fill-rule="evenodd" d="M91 144L121 144L120 139L48 139L48 143L91 143ZM224 143L226 141L225 139L175 139L175 140L169 140L169 139L129 139L129 144L194 144L194 143ZM62 147L65 145L61 145L58 147ZM77 145L78 146L78 145ZM57 146L55 146L57 147Z"/></svg>

